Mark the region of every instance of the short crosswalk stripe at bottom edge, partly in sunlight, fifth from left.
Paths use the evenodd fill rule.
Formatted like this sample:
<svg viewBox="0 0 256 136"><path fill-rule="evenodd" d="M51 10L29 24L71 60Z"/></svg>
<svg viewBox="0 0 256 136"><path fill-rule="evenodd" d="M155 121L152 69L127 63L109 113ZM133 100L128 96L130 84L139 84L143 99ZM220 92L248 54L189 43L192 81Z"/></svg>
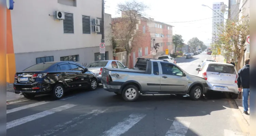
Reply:
<svg viewBox="0 0 256 136"><path fill-rule="evenodd" d="M190 122L187 121L173 121L170 129L165 134L166 136L185 136Z"/></svg>

